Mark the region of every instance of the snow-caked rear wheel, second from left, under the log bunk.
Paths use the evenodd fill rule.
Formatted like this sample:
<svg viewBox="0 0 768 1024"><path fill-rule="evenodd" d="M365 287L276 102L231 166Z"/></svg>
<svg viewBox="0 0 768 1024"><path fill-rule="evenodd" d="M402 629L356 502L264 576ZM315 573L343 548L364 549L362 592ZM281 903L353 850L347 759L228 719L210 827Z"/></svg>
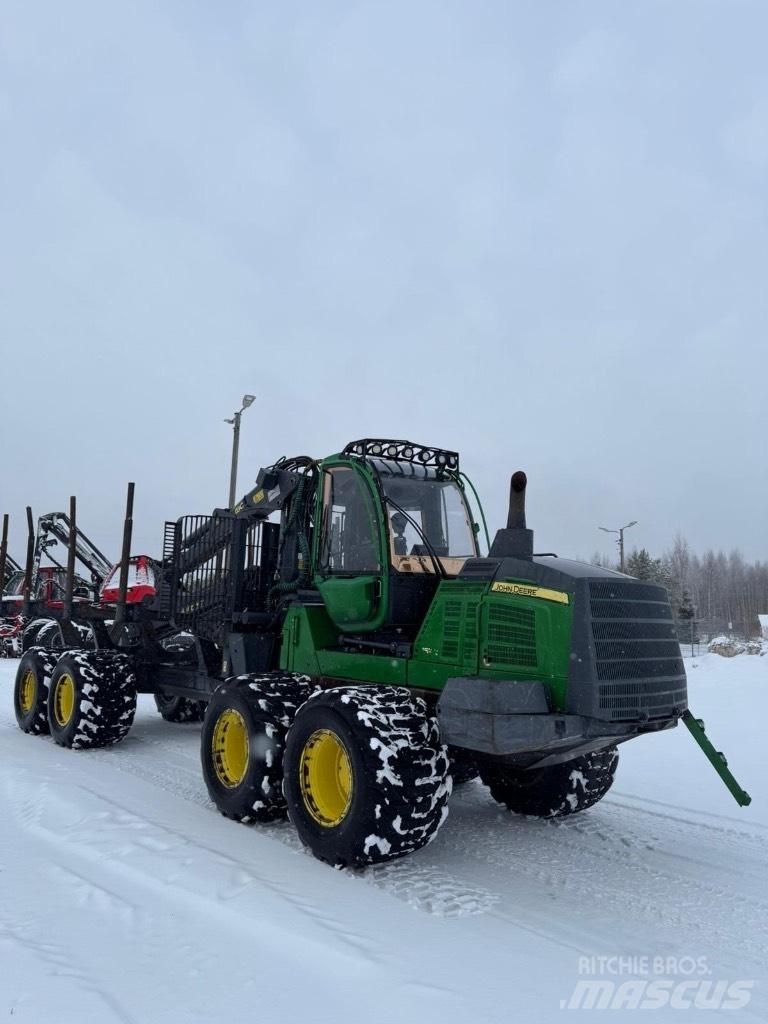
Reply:
<svg viewBox="0 0 768 1024"><path fill-rule="evenodd" d="M136 714L136 675L129 654L66 651L48 692L48 725L60 746L84 750L123 739Z"/></svg>

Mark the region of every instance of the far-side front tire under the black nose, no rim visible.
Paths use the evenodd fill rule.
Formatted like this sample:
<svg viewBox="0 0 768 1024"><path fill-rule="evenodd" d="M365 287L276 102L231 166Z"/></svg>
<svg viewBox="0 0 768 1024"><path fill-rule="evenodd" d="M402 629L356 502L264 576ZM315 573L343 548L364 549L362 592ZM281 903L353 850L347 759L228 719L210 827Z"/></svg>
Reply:
<svg viewBox="0 0 768 1024"><path fill-rule="evenodd" d="M618 751L608 746L571 761L528 770L495 763L480 765L492 797L516 814L563 817L592 807L613 782Z"/></svg>

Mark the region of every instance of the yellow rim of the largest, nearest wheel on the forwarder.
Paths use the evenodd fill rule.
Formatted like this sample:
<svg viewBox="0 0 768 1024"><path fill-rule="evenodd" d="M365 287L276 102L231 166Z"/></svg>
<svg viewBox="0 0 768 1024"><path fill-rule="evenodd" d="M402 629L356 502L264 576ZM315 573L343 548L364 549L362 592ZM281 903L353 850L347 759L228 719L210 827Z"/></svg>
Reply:
<svg viewBox="0 0 768 1024"><path fill-rule="evenodd" d="M317 824L340 824L352 802L352 762L335 732L312 733L301 752L299 771L304 805Z"/></svg>

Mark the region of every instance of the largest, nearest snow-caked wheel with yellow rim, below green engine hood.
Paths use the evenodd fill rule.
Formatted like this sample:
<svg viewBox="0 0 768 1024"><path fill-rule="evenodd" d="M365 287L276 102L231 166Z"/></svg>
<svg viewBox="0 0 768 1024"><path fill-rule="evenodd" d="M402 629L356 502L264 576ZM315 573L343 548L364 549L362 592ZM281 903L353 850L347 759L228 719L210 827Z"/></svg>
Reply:
<svg viewBox="0 0 768 1024"><path fill-rule="evenodd" d="M403 687L316 691L288 733L284 769L299 838L335 867L412 853L447 816L447 750L425 702Z"/></svg>

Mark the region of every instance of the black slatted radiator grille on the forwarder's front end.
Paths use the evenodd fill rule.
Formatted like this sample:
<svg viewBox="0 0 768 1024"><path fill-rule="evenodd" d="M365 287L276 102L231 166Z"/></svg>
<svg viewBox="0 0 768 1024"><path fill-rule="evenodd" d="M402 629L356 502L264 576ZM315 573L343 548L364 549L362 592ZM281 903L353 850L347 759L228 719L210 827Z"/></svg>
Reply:
<svg viewBox="0 0 768 1024"><path fill-rule="evenodd" d="M599 711L613 721L668 718L685 707L680 644L664 587L590 584Z"/></svg>

